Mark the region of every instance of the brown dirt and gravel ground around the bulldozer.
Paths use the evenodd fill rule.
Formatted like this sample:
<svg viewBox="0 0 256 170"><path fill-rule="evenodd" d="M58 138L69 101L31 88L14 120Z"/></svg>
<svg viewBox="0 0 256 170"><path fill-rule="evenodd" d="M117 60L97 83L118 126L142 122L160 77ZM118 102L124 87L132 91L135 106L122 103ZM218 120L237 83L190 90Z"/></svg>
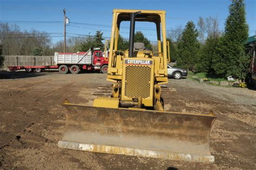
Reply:
<svg viewBox="0 0 256 170"><path fill-rule="evenodd" d="M58 148L63 99L89 103L106 74L0 72L0 169L255 169L256 91L169 79L169 111L217 115L210 136L214 164L138 158Z"/></svg>

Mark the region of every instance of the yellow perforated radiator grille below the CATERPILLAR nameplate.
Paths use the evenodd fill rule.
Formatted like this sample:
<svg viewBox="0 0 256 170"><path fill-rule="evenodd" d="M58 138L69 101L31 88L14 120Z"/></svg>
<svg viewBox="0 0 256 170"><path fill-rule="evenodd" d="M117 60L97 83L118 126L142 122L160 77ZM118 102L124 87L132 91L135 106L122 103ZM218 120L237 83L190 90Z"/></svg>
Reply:
<svg viewBox="0 0 256 170"><path fill-rule="evenodd" d="M130 98L150 97L151 67L127 65L125 68L125 96Z"/></svg>

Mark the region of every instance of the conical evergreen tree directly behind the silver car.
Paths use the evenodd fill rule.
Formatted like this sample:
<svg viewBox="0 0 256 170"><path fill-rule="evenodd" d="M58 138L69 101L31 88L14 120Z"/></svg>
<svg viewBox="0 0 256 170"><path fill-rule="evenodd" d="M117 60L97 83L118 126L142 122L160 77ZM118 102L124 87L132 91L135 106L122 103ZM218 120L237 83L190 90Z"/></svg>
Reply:
<svg viewBox="0 0 256 170"><path fill-rule="evenodd" d="M192 21L187 22L185 30L178 42L177 66L191 71L196 70L198 63L199 42L198 31Z"/></svg>

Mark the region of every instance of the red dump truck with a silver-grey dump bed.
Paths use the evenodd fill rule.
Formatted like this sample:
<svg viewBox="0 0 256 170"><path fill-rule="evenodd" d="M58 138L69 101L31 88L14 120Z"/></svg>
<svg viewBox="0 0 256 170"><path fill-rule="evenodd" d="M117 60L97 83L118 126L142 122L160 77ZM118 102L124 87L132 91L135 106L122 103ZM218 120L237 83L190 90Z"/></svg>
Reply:
<svg viewBox="0 0 256 170"><path fill-rule="evenodd" d="M107 73L109 58L107 51L103 53L99 48L95 48L78 53L55 52L54 63L63 74L69 71L77 74L82 70L100 70L102 73Z"/></svg>

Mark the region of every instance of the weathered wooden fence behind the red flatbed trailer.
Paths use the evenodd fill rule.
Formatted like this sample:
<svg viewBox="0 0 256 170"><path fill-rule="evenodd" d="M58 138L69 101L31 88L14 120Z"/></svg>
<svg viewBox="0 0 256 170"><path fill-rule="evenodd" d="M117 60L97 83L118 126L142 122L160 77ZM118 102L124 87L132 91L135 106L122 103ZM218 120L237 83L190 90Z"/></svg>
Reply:
<svg viewBox="0 0 256 170"><path fill-rule="evenodd" d="M4 67L53 65L54 56L3 56Z"/></svg>

